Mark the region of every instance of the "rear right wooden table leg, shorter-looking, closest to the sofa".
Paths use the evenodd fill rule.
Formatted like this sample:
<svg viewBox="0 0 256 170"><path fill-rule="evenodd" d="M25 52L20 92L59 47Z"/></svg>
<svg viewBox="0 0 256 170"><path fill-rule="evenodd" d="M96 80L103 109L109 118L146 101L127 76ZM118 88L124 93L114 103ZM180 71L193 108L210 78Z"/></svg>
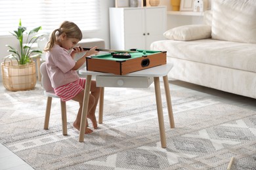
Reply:
<svg viewBox="0 0 256 170"><path fill-rule="evenodd" d="M173 107L171 106L171 93L169 89L169 83L168 83L168 76L163 76L163 83L165 86L165 97L166 97L166 102L167 102L167 109L168 109L168 114L169 114L169 122L170 122L170 127L174 128L175 123L174 123L174 118L173 118Z"/></svg>

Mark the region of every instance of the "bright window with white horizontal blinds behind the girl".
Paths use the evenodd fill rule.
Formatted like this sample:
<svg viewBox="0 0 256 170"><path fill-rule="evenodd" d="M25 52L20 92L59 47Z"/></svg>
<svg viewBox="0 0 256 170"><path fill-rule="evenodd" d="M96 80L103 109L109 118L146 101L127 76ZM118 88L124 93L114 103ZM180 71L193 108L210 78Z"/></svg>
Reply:
<svg viewBox="0 0 256 170"><path fill-rule="evenodd" d="M99 0L1 0L0 35L16 30L20 19L28 30L42 26L51 33L68 20L81 31L93 31L100 27L99 5Z"/></svg>

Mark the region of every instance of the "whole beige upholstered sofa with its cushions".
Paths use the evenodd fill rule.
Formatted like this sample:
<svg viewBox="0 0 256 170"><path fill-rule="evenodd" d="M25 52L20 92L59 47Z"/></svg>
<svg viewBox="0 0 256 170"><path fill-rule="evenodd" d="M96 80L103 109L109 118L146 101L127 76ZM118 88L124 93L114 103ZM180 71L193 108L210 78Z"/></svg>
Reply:
<svg viewBox="0 0 256 170"><path fill-rule="evenodd" d="M204 19L151 44L167 51L169 78L256 98L256 1L214 0Z"/></svg>

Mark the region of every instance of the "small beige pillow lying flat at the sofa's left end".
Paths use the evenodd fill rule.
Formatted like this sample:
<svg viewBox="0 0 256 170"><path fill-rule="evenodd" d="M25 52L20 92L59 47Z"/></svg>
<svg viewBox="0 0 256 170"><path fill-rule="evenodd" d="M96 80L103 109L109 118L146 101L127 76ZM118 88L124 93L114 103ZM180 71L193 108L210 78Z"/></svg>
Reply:
<svg viewBox="0 0 256 170"><path fill-rule="evenodd" d="M167 39L179 40L179 41L192 41L198 39L211 38L211 26L210 25L184 25L181 27L175 27L169 29L163 33L163 36Z"/></svg>

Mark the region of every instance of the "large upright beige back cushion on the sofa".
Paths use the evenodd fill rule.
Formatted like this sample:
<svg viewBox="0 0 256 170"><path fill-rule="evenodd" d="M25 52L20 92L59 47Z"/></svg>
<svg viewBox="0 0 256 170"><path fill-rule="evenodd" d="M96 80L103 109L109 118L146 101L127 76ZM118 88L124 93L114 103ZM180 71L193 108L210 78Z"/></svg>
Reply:
<svg viewBox="0 0 256 170"><path fill-rule="evenodd" d="M214 0L212 39L256 44L255 16L255 0Z"/></svg>

